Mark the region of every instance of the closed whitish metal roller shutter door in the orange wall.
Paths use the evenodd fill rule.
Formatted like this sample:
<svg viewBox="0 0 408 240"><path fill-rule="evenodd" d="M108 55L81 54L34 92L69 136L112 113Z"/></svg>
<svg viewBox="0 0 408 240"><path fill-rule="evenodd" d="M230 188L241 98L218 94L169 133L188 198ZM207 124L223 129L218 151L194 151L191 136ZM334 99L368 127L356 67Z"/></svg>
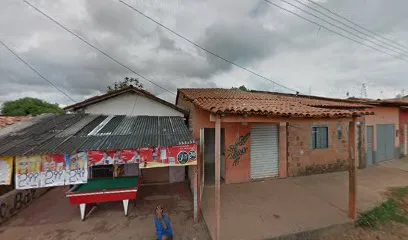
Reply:
<svg viewBox="0 0 408 240"><path fill-rule="evenodd" d="M278 125L253 125L251 128L251 178L277 176L279 176Z"/></svg>

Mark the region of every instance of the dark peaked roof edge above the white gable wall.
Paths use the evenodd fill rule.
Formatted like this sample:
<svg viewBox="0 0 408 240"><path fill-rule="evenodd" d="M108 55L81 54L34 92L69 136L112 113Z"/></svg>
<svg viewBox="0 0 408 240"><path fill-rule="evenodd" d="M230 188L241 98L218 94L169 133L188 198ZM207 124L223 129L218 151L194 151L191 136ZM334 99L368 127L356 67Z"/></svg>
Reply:
<svg viewBox="0 0 408 240"><path fill-rule="evenodd" d="M158 98L158 97L156 97L155 95L151 94L150 92L148 92L146 90L136 88L136 87L134 87L132 85L129 86L129 87L126 87L126 88L122 88L122 89L119 89L119 90L111 91L111 92L108 92L108 93L105 93L105 94L102 94L102 95L98 95L98 96L95 96L95 97L88 98L88 99L86 99L86 100L84 100L82 102L79 102L79 103L75 103L75 104L66 106L66 107L64 107L64 110L65 111L75 111L75 110L78 110L80 108L92 105L94 103L98 103L98 102L107 100L109 98L113 98L113 97L116 97L118 95L121 95L121 94L124 94L124 93L129 93L129 92L133 92L133 93L137 93L139 95L145 96L145 97L150 98L150 99L152 99L152 100L154 100L156 102L159 102L159 103L161 103L163 105L171 107L171 108L173 108L173 109L175 109L175 110L177 110L177 111L179 111L179 112L181 112L181 113L183 113L185 115L187 114L187 112L185 110L177 107L176 105L174 105L172 103L169 103L169 102L167 102L167 101L165 101L165 100L163 100L161 98Z"/></svg>

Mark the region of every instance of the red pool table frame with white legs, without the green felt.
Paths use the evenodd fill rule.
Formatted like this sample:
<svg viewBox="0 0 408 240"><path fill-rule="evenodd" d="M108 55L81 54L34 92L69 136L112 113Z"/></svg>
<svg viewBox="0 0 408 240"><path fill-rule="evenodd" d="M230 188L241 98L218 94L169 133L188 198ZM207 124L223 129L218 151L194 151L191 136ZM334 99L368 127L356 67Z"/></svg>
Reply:
<svg viewBox="0 0 408 240"><path fill-rule="evenodd" d="M79 205L81 212L81 220L85 220L85 209L86 204L95 204L102 202L123 202L123 209L125 211L125 216L128 214L129 200L135 200L137 197L137 192L139 186L142 182L142 178L139 179L137 186L133 188L125 189L111 189L111 190L100 190L92 192L74 192L79 186L71 188L66 196L69 198L71 204Z"/></svg>

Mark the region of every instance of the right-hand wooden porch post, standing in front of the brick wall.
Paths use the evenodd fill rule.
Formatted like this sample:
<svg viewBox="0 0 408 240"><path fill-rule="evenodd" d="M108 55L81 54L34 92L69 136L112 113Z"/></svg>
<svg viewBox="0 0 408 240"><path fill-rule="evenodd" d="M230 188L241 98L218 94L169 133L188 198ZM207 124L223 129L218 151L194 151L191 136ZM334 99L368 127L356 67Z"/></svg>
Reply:
<svg viewBox="0 0 408 240"><path fill-rule="evenodd" d="M349 126L349 218L355 220L357 216L356 212L356 191L357 191L357 179L356 179L356 155L357 151L357 141L356 138L356 119L350 122Z"/></svg>

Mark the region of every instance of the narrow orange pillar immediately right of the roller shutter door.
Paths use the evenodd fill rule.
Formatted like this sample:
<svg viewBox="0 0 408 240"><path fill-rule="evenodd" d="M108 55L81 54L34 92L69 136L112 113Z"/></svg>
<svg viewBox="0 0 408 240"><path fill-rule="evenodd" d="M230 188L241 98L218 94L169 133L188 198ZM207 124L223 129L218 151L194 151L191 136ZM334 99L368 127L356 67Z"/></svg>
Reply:
<svg viewBox="0 0 408 240"><path fill-rule="evenodd" d="M279 178L288 176L288 124L279 124Z"/></svg>

